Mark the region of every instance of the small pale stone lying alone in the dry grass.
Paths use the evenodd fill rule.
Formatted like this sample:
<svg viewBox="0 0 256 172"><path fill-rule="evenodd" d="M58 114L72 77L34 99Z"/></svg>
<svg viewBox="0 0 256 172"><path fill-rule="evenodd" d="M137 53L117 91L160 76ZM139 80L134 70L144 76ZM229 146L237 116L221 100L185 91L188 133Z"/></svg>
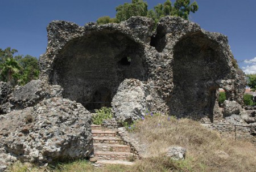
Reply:
<svg viewBox="0 0 256 172"><path fill-rule="evenodd" d="M173 160L184 160L187 149L183 147L173 146L168 148L167 157L171 157Z"/></svg>

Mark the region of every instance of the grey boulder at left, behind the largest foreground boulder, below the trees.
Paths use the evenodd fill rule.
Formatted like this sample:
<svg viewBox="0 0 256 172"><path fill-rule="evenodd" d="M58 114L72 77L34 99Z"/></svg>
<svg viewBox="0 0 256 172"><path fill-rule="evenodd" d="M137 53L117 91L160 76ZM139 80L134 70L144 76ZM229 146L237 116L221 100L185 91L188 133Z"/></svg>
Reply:
<svg viewBox="0 0 256 172"><path fill-rule="evenodd" d="M15 87L8 101L1 106L1 113L22 110L34 106L44 98L61 97L63 88L60 85L48 85L42 80L32 80L23 87Z"/></svg>

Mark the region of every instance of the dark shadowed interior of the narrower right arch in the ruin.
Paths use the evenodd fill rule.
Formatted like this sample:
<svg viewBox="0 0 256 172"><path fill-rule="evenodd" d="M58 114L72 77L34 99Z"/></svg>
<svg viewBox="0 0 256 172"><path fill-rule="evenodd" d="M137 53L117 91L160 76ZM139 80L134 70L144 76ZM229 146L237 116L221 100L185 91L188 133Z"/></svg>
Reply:
<svg viewBox="0 0 256 172"><path fill-rule="evenodd" d="M183 37L174 48L174 90L168 102L170 114L177 117L213 121L218 79L229 72L216 42L203 33Z"/></svg>

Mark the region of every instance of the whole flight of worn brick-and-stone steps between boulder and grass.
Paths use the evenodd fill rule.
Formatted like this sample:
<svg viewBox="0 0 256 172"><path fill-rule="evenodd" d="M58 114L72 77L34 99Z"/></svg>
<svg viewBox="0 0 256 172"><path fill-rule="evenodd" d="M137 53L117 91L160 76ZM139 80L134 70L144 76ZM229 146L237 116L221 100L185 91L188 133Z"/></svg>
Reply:
<svg viewBox="0 0 256 172"><path fill-rule="evenodd" d="M95 166L106 164L133 165L135 158L129 145L117 135L117 131L92 124Z"/></svg>

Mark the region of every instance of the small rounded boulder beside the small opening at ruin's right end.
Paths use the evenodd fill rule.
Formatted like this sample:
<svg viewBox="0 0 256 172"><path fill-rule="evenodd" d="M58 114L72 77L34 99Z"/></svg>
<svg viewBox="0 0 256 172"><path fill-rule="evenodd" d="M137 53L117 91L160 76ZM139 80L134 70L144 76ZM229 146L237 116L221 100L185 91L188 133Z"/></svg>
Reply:
<svg viewBox="0 0 256 172"><path fill-rule="evenodd" d="M223 103L223 117L230 117L232 114L239 115L242 107L236 101L225 100Z"/></svg>

